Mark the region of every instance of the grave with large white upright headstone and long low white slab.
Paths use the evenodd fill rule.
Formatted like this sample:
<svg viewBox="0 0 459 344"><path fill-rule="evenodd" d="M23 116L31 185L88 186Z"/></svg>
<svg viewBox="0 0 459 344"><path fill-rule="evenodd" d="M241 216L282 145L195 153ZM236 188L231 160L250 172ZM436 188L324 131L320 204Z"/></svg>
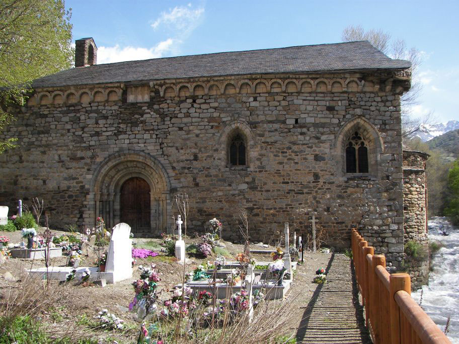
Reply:
<svg viewBox="0 0 459 344"><path fill-rule="evenodd" d="M91 271L90 281L105 279L107 283L116 283L132 278L132 239L129 238L131 227L126 223L119 223L113 227L108 246L107 264L105 272L99 272L98 267L80 267L75 270L75 280L80 279L86 269ZM64 281L65 276L73 270L72 267L51 267L32 269L29 275L40 279Z"/></svg>

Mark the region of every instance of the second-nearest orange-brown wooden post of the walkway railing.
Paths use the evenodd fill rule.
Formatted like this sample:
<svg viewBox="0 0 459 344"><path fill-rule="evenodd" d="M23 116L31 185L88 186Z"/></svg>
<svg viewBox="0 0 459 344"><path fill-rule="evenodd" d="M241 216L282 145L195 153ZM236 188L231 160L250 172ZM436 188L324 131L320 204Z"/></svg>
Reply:
<svg viewBox="0 0 459 344"><path fill-rule="evenodd" d="M382 340L389 333L389 324L387 318L382 316L382 307L387 307L384 299L380 296L384 290L380 290L381 283L376 275L376 266L380 265L386 269L386 256L384 254L375 254L371 257L371 288L370 288L370 304L373 305L370 310L370 322L373 328L374 342L379 344L385 342ZM382 286L384 288L384 286Z"/></svg>

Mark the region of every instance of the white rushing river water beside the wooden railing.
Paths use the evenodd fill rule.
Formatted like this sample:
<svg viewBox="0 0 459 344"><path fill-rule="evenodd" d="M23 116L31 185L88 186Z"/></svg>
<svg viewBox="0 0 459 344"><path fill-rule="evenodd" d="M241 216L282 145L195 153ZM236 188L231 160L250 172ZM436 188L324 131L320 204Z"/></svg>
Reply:
<svg viewBox="0 0 459 344"><path fill-rule="evenodd" d="M421 307L444 330L448 316L448 338L459 344L459 228L444 217L433 217L428 222L429 240L440 241L444 246L433 256L434 270L429 274L429 285L422 286ZM448 233L442 235L443 230ZM412 294L416 302L421 289Z"/></svg>

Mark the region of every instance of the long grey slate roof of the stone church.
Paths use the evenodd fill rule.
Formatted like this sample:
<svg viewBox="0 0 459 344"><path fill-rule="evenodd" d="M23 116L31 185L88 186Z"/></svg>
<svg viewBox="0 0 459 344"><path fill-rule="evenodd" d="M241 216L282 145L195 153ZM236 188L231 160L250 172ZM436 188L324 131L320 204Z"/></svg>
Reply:
<svg viewBox="0 0 459 344"><path fill-rule="evenodd" d="M400 69L410 66L408 61L387 57L368 41L359 41L98 64L44 76L35 80L32 87L217 75Z"/></svg>

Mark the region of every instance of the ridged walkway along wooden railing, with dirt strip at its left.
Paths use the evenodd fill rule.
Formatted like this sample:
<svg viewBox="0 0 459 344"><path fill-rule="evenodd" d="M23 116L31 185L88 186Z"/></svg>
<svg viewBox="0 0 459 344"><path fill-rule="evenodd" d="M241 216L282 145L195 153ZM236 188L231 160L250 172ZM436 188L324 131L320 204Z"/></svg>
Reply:
<svg viewBox="0 0 459 344"><path fill-rule="evenodd" d="M302 304L297 301L301 310L294 322L297 342L371 343L350 260L344 254L331 254L326 270L327 283L317 285L312 297L307 285L295 283L292 287L291 295L299 293L296 299L303 300ZM302 271L300 267L297 274Z"/></svg>

